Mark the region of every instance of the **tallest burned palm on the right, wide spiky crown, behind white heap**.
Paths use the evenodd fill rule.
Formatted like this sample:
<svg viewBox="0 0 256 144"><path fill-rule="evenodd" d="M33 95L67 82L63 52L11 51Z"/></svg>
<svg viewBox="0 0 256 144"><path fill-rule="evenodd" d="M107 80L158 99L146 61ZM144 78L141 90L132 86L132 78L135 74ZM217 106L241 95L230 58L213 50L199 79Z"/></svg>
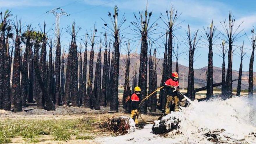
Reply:
<svg viewBox="0 0 256 144"><path fill-rule="evenodd" d="M235 18L232 16L232 13L230 11L229 13L229 21L225 19L223 23L221 22L221 26L223 27L225 34L222 34L226 41L228 42L228 64L227 64L227 76L226 76L226 84L225 84L225 94L224 99L230 98L232 96L232 57L233 57L233 43L240 38L239 34L243 31L237 32L239 27L241 26L241 23L239 26L235 28Z"/></svg>

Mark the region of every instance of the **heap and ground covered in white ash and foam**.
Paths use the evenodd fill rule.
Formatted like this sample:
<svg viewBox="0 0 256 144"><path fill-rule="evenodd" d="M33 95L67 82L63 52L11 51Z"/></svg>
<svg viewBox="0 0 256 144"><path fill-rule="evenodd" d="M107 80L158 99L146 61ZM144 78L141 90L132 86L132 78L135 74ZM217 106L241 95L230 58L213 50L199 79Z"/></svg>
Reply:
<svg viewBox="0 0 256 144"><path fill-rule="evenodd" d="M235 97L225 101L214 99L208 102L195 102L180 112L171 112L162 118L166 126L177 125L166 134L153 134L153 125L116 137L97 138L97 142L106 144L153 144L153 143L256 143L256 106L255 100L247 97ZM177 123L177 119L179 122ZM159 125L154 122L154 127Z"/></svg>

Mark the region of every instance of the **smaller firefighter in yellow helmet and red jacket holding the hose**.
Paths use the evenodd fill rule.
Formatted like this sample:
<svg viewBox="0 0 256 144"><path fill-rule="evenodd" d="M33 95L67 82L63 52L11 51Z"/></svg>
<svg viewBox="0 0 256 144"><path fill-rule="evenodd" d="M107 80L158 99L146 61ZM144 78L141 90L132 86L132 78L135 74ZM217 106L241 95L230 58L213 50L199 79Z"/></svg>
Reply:
<svg viewBox="0 0 256 144"><path fill-rule="evenodd" d="M140 94L141 88L136 86L134 88L134 94L131 95L131 118L134 120L135 124L138 124L138 117L139 117L139 103L140 103Z"/></svg>

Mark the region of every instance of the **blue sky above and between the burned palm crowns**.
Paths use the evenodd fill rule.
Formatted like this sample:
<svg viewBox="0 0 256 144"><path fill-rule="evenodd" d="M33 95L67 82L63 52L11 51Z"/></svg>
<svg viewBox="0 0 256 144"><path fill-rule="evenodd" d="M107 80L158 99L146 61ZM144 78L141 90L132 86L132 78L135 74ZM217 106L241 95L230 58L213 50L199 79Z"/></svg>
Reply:
<svg viewBox="0 0 256 144"><path fill-rule="evenodd" d="M67 25L72 24L73 21L76 22L77 26L81 26L82 29L78 36L83 37L86 30L90 31L93 28L94 22L96 22L96 27L98 29L98 34L100 32L105 32L102 29L104 22L101 18L109 22L108 12L113 12L114 5L119 7L119 15L125 13L127 19L125 25L130 25L130 21L134 20L133 13L138 14L138 11L145 10L146 0L0 0L0 8L2 11L6 9L12 10L12 14L17 15L18 18L22 18L22 22L25 24L32 24L35 29L38 30L38 24L42 24L44 21L47 23L47 28L51 27L54 29L55 17L53 14L45 14L47 10L51 10L56 7L61 7L70 16L61 17L60 27L65 29ZM228 18L229 10L236 18L236 25L238 26L242 21L241 29L250 36L250 30L252 26L256 26L256 10L254 7L255 1L239 1L239 0L148 0L148 11L152 11L152 22L160 16L161 13L165 13L166 9L170 9L171 3L174 5L178 13L182 13L179 21L184 22L180 25L182 29L175 31L175 35L180 42L180 49L186 49L187 47L182 42L185 36L185 31L187 30L187 24L190 24L192 31L199 29L199 34L203 35L203 27L209 26L209 23L213 19L214 25L217 29L223 32L220 21ZM159 26L164 26L161 20L158 20ZM164 32L164 29L157 28L157 32ZM131 33L130 29L125 31L126 33ZM53 37L53 31L50 31L51 37ZM158 35L153 35L153 38L157 38ZM127 35L127 38L132 38L132 35ZM65 33L62 38L62 46L68 44L70 36ZM250 43L246 36L241 37L237 42L234 43L236 46L241 46L242 42L245 42L245 47L247 48L247 56L250 57ZM177 40L175 40L177 42ZM216 67L221 67L221 58L217 55L219 54L218 47L221 40L216 43L214 47L214 62L213 65ZM201 42L202 43L202 42ZM139 41L134 42L133 50L140 52ZM121 52L125 52L125 47L121 49ZM234 52L237 53L236 51ZM207 66L208 63L208 49L206 47L198 48L197 55L199 56L197 61L195 61L195 68ZM159 58L163 57L163 48L158 48ZM197 57L197 56L196 56ZM179 63L182 65L188 65L186 60L187 56L184 55L180 58ZM239 70L240 59L238 56L234 55L233 69ZM255 64L256 65L256 64ZM249 58L245 58L243 61L243 71L248 71L249 68ZM256 69L254 68L254 71Z"/></svg>

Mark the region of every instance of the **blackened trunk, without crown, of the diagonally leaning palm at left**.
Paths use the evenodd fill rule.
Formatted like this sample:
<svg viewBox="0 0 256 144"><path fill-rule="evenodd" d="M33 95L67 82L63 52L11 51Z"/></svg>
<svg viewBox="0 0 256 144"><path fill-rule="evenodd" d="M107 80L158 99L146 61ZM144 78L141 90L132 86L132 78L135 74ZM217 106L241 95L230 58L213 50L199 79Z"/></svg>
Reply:
<svg viewBox="0 0 256 144"><path fill-rule="evenodd" d="M54 103L52 102L51 98L50 98L50 91L48 91L45 88L45 84L44 81L42 80L42 77L40 75L40 70L39 70L39 66L38 66L38 48L39 48L39 42L35 42L35 51L34 51L34 69L35 69L35 74L39 83L39 86L42 90L42 93L44 94L44 99L45 99L45 109L47 111L55 111L55 106ZM51 48L51 47L50 47Z"/></svg>

